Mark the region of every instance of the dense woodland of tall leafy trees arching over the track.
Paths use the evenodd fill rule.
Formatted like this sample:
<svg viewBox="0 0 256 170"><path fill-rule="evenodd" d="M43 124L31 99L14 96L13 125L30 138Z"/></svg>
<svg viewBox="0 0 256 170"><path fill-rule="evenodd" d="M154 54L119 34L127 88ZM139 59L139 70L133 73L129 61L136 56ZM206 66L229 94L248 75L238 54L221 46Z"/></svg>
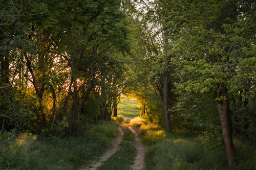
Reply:
<svg viewBox="0 0 256 170"><path fill-rule="evenodd" d="M76 136L121 94L206 147L256 141L255 1L0 0L0 140Z"/></svg>

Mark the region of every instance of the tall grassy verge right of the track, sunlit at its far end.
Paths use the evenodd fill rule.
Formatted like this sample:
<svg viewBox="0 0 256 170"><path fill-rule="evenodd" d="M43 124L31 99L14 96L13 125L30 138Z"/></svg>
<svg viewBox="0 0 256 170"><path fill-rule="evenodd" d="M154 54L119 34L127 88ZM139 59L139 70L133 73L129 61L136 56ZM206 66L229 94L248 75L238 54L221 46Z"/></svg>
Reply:
<svg viewBox="0 0 256 170"><path fill-rule="evenodd" d="M158 126L142 125L141 140L148 145L145 156L147 170L230 169L225 148L206 150L199 137L179 133L167 134ZM255 168L255 149L238 142L235 144L239 162L233 169ZM244 148L241 148L242 146Z"/></svg>

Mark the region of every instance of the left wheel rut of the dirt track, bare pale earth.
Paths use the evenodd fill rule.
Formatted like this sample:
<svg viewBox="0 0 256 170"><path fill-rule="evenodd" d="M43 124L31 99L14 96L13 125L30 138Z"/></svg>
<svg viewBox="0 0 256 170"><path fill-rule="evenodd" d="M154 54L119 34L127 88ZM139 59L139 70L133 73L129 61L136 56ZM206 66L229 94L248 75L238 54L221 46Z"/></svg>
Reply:
<svg viewBox="0 0 256 170"><path fill-rule="evenodd" d="M80 168L79 170L96 170L97 167L101 166L102 163L108 160L115 152L119 149L119 144L122 141L123 129L118 127L117 137L111 141L110 148L100 157L99 160L92 162L91 166Z"/></svg>

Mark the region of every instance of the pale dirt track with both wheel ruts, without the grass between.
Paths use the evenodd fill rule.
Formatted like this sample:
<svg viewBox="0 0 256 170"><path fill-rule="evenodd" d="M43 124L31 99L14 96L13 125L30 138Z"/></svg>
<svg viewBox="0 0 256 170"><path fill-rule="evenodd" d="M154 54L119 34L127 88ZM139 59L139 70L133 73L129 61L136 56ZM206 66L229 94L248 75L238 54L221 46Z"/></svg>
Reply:
<svg viewBox="0 0 256 170"><path fill-rule="evenodd" d="M90 166L80 168L80 170L96 170L98 167L104 164L106 160L108 160L113 154L115 154L120 149L120 143L122 141L122 137L125 131L131 130L131 132L135 136L135 141L132 142L132 144L135 146L137 150L137 154L135 157L135 160L133 164L131 165L131 170L141 170L144 168L144 155L145 155L145 147L142 144L139 134L138 134L138 128L134 127L125 127L122 126L122 124L127 125L127 121L129 121L129 118L125 117L123 122L120 123L120 126L118 127L118 135L111 141L111 145L108 150L96 161L92 162Z"/></svg>

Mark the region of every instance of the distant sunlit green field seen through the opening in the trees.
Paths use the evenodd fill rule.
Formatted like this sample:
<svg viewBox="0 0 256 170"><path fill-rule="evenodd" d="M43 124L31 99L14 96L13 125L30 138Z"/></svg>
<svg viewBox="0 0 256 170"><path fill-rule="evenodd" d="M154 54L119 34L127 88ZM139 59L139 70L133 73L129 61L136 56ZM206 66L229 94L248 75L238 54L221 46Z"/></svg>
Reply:
<svg viewBox="0 0 256 170"><path fill-rule="evenodd" d="M140 115L136 100L122 98L117 106L117 113L124 117L134 118Z"/></svg>

